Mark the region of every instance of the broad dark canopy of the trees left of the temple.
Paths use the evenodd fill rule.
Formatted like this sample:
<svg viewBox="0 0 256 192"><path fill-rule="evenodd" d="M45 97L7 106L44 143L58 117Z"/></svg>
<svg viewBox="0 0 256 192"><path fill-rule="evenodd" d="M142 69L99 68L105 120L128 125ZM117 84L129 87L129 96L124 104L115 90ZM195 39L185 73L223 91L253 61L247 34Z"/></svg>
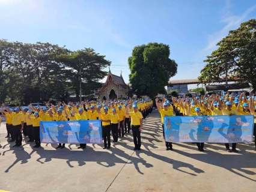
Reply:
<svg viewBox="0 0 256 192"><path fill-rule="evenodd" d="M110 64L91 48L71 51L50 43L0 40L0 102L67 100L70 92L78 97L80 77L82 94L91 94Z"/></svg>

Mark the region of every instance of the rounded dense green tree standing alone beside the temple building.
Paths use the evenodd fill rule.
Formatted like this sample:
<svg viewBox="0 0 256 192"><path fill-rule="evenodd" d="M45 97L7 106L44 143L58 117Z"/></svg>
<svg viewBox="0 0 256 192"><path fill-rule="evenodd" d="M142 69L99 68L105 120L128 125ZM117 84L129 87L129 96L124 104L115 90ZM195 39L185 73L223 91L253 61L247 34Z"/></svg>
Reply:
<svg viewBox="0 0 256 192"><path fill-rule="evenodd" d="M177 73L177 64L169 58L167 44L148 43L136 46L128 58L129 80L136 95L166 94L168 80Z"/></svg>

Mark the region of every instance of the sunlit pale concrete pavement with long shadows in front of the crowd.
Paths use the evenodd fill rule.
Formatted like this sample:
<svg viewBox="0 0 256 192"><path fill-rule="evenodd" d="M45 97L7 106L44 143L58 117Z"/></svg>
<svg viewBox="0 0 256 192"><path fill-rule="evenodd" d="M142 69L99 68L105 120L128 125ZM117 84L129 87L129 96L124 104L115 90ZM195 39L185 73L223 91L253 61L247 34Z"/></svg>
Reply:
<svg viewBox="0 0 256 192"><path fill-rule="evenodd" d="M132 134L111 149L88 145L55 149L10 148L5 122L0 127L0 191L255 191L254 143L239 144L239 154L223 144L198 152L190 143L165 151L157 111L144 121L142 150L133 151ZM25 139L26 141L27 139Z"/></svg>

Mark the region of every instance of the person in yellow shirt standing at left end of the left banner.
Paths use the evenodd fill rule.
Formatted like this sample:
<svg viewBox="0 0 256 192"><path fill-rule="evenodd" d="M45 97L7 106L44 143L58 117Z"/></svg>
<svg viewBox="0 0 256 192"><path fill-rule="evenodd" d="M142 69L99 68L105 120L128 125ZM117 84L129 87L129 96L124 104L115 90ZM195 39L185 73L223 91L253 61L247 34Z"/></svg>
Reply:
<svg viewBox="0 0 256 192"><path fill-rule="evenodd" d="M32 126L33 126L33 133L34 133L34 139L35 139L35 146L34 148L39 148L41 146L41 141L40 141L40 121L41 118L39 118L39 113L35 112L34 117L31 117L30 112L28 114L28 119L31 119L32 121Z"/></svg>

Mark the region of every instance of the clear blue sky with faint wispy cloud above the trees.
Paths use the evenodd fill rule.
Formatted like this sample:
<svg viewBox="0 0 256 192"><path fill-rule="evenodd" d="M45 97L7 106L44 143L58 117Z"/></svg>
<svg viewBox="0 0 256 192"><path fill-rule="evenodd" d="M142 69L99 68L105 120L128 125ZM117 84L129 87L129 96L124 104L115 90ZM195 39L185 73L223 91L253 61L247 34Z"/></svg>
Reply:
<svg viewBox="0 0 256 192"><path fill-rule="evenodd" d="M0 38L92 47L112 61L113 74L123 71L126 82L133 47L165 43L178 64L171 80L194 79L216 43L255 17L255 0L0 0Z"/></svg>

